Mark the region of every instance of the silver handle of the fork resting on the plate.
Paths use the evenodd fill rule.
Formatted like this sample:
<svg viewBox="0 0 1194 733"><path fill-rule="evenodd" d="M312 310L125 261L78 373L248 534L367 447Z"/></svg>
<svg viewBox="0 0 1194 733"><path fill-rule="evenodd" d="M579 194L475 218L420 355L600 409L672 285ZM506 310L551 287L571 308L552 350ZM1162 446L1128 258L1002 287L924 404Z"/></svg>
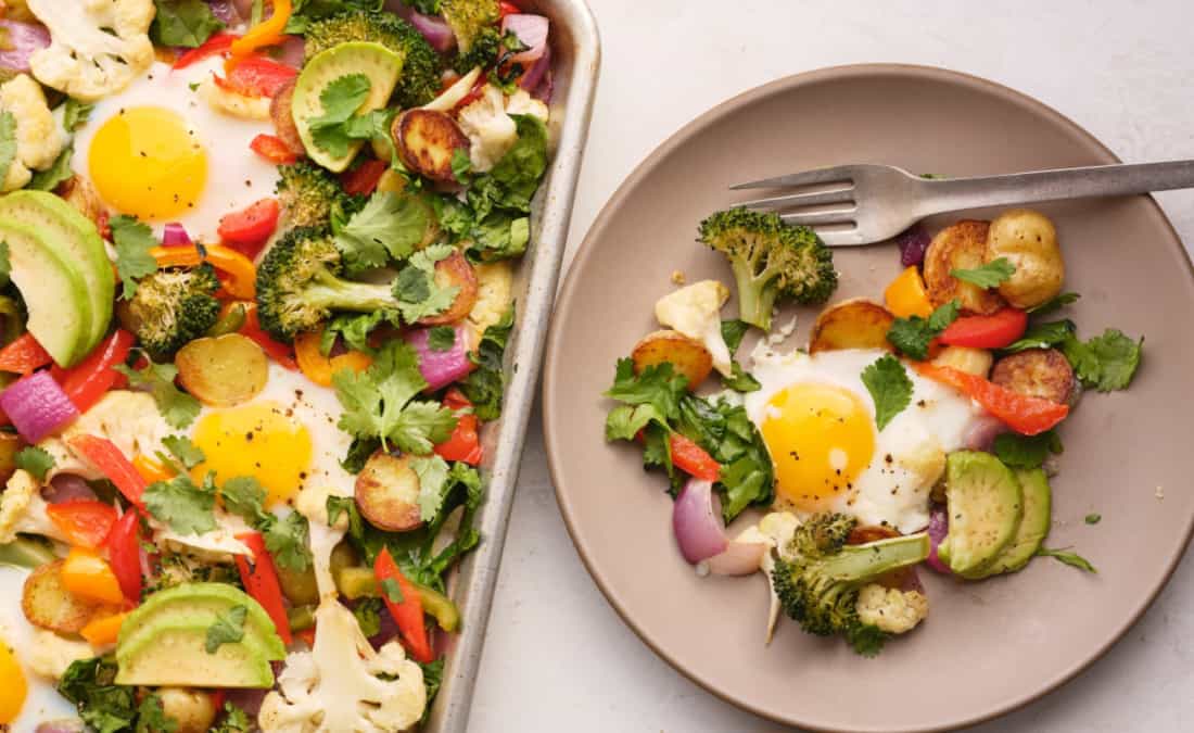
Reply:
<svg viewBox="0 0 1194 733"><path fill-rule="evenodd" d="M925 180L921 216L1009 204L1194 187L1194 160Z"/></svg>

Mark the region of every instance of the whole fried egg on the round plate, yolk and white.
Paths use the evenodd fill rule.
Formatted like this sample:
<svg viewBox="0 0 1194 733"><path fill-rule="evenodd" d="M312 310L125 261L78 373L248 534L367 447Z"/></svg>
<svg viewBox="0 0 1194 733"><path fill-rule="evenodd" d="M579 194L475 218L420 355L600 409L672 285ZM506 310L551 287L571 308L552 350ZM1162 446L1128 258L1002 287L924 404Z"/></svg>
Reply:
<svg viewBox="0 0 1194 733"><path fill-rule="evenodd" d="M912 399L882 430L862 370L887 352L755 352L762 386L744 406L775 464L777 504L798 515L853 515L900 532L929 523L929 492L946 454L962 448L983 409L907 370Z"/></svg>

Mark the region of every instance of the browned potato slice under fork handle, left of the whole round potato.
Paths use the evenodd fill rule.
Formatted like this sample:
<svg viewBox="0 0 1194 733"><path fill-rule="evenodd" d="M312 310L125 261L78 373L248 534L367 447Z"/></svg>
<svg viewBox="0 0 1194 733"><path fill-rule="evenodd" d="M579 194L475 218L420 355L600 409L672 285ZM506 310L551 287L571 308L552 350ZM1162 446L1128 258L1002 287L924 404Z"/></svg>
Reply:
<svg viewBox="0 0 1194 733"><path fill-rule="evenodd" d="M953 275L953 270L974 270L986 261L985 221L964 220L946 227L933 238L924 252L924 287L934 306L958 298L964 310L990 315L1003 307L995 290L984 290Z"/></svg>

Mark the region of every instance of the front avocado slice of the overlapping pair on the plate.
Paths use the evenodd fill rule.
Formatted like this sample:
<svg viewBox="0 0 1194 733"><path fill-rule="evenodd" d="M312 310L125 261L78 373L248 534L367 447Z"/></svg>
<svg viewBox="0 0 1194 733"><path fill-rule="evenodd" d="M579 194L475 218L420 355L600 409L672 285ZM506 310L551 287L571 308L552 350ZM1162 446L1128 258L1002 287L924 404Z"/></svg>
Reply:
<svg viewBox="0 0 1194 733"><path fill-rule="evenodd" d="M1011 469L987 452L946 458L949 534L937 556L962 578L981 578L1020 529L1024 493Z"/></svg>

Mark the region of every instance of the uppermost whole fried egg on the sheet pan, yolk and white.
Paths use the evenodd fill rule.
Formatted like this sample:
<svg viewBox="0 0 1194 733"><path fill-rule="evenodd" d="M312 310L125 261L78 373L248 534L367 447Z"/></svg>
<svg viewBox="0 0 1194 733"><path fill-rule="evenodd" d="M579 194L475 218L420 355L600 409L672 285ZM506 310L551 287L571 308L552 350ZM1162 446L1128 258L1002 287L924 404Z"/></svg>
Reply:
<svg viewBox="0 0 1194 733"><path fill-rule="evenodd" d="M213 57L184 69L155 62L119 94L96 103L76 133L72 168L105 204L160 235L180 222L192 238L217 241L220 218L272 196L277 168L250 149L269 121L211 109L196 92L222 73Z"/></svg>

